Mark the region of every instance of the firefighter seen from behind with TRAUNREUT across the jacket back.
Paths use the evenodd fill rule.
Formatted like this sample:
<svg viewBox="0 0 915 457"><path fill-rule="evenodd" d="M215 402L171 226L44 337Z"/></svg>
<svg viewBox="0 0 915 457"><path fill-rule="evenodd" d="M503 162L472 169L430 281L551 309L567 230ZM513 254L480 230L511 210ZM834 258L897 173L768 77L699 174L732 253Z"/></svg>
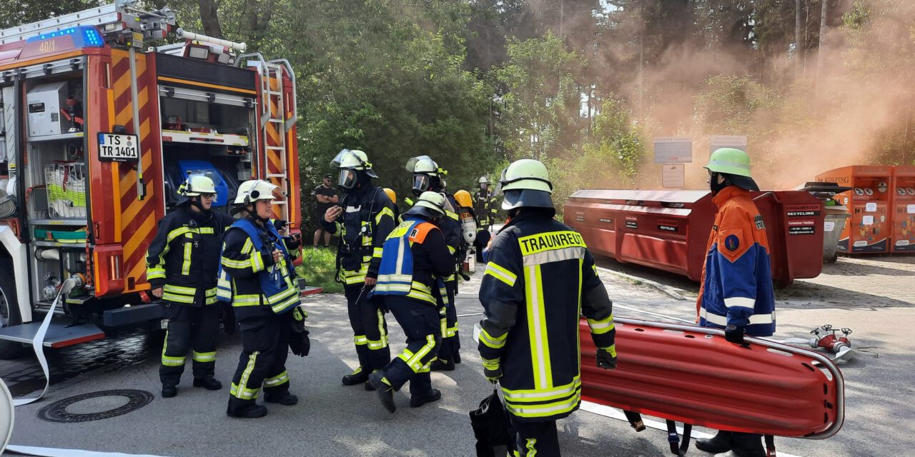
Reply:
<svg viewBox="0 0 915 457"><path fill-rule="evenodd" d="M514 162L501 186L511 221L492 241L479 289L479 356L484 376L501 384L515 455L558 456L556 420L581 403L579 314L590 324L597 367L612 369L612 303L581 235L553 218L546 167Z"/></svg>

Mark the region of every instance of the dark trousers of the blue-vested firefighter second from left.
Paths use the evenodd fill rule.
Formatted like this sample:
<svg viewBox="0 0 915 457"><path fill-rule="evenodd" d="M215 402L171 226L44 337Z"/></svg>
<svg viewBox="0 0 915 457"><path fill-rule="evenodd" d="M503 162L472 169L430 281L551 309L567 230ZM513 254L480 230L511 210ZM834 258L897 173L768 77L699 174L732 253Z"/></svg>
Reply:
<svg viewBox="0 0 915 457"><path fill-rule="evenodd" d="M244 319L240 327L242 355L231 378L231 413L250 408L262 385L267 396L279 396L289 390L285 361L289 356L292 313Z"/></svg>

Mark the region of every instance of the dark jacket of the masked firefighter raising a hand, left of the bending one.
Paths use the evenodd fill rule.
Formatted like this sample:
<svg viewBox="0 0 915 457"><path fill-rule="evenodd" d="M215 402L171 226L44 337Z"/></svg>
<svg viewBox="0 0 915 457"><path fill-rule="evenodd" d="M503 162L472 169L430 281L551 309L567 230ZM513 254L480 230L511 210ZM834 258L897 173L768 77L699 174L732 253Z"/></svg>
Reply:
<svg viewBox="0 0 915 457"><path fill-rule="evenodd" d="M361 285L366 276L378 276L382 246L395 223L395 207L381 187L364 186L344 194L343 213L334 222L321 218L321 226L340 238L337 279L346 286Z"/></svg>

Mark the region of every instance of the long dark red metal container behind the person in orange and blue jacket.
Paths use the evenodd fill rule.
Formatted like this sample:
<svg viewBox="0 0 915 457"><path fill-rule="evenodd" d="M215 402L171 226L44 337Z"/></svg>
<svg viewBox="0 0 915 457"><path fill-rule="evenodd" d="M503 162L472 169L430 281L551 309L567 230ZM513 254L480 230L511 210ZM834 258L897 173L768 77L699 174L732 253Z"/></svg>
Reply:
<svg viewBox="0 0 915 457"><path fill-rule="evenodd" d="M772 277L780 285L823 269L823 203L808 192L753 193L766 223ZM622 262L702 278L715 204L702 190L580 190L565 203L565 224L588 248Z"/></svg>

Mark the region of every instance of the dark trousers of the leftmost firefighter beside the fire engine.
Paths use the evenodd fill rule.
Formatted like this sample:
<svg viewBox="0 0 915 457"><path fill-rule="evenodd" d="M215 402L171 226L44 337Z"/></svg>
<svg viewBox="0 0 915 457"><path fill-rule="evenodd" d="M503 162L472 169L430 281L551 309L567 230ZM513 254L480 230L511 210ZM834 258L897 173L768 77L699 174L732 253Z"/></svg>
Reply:
<svg viewBox="0 0 915 457"><path fill-rule="evenodd" d="M159 380L163 386L177 386L184 373L188 350L192 352L194 378L213 376L216 367L216 335L220 329L221 304L192 306L166 303L166 341L162 345Z"/></svg>

